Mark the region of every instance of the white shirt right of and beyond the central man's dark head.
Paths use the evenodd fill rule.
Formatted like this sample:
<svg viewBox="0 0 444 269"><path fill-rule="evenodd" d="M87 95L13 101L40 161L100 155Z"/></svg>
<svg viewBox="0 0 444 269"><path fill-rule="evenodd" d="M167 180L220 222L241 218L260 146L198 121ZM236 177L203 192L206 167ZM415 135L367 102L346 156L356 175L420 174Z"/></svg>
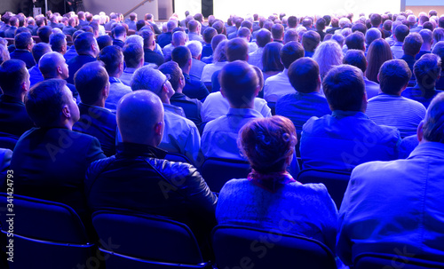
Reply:
<svg viewBox="0 0 444 269"><path fill-rule="evenodd" d="M296 90L289 83L289 70L285 68L278 75L270 76L264 84L264 99L267 102L276 102L280 97L296 93Z"/></svg>

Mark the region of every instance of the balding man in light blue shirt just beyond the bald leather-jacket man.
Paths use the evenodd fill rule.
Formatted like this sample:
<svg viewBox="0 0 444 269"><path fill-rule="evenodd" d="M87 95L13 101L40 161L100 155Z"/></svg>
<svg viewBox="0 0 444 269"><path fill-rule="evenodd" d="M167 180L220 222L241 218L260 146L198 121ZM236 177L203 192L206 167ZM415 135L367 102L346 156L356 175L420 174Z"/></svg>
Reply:
<svg viewBox="0 0 444 269"><path fill-rule="evenodd" d="M203 161L199 155L201 137L195 124L186 119L183 109L170 104L174 90L169 77L153 67L140 67L132 75L131 89L132 91L153 91L163 102L165 131L159 147L186 155L194 166L199 167Z"/></svg>

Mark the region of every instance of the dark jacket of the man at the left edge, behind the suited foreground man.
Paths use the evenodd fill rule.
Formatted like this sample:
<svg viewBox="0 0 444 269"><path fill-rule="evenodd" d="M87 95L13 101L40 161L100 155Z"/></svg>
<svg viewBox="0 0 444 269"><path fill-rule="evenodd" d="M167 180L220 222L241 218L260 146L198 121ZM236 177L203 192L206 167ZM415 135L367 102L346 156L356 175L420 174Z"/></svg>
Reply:
<svg viewBox="0 0 444 269"><path fill-rule="evenodd" d="M0 131L12 134L17 138L29 129L34 123L28 116L25 104L20 99L9 95L0 96Z"/></svg>

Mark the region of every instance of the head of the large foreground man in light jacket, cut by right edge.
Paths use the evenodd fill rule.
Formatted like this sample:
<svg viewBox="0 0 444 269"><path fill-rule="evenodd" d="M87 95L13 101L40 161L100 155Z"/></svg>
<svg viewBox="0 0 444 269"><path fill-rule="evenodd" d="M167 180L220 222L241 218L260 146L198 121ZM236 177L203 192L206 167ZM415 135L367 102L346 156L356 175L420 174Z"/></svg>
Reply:
<svg viewBox="0 0 444 269"><path fill-rule="evenodd" d="M432 99L425 113L423 138L429 142L444 143L444 93Z"/></svg>

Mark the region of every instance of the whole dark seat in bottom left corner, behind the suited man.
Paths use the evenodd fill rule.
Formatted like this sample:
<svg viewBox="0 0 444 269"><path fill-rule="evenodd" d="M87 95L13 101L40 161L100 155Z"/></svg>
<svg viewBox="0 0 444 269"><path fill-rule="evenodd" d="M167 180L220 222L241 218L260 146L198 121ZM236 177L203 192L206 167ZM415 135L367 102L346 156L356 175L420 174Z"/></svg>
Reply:
<svg viewBox="0 0 444 269"><path fill-rule="evenodd" d="M87 267L92 259L97 260L93 257L95 245L69 206L16 194L9 196L0 194L0 221L2 233L13 232L10 269ZM8 215L11 213L15 215ZM12 222L6 221L11 219ZM6 242L2 242L4 246Z"/></svg>

